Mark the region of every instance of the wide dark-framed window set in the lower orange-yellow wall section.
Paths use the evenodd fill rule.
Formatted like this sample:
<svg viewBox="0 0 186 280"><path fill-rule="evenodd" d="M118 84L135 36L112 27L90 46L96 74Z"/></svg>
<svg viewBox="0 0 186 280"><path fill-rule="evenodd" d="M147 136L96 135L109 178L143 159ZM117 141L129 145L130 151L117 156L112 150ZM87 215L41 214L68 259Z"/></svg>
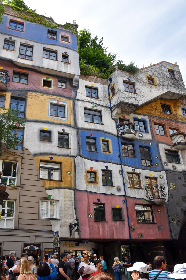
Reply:
<svg viewBox="0 0 186 280"><path fill-rule="evenodd" d="M61 163L40 161L39 179L61 181Z"/></svg>

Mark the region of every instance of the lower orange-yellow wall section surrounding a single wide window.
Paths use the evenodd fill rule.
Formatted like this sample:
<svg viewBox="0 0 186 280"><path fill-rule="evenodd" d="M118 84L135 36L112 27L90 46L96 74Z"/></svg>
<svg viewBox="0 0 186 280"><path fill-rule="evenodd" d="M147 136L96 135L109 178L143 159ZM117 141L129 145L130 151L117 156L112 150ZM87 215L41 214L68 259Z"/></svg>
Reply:
<svg viewBox="0 0 186 280"><path fill-rule="evenodd" d="M53 157L53 160L50 160L49 157ZM38 169L40 160L61 163L62 181L42 179L46 190L61 187L74 188L74 158L60 157L55 155L42 155L35 156L34 159L37 163ZM67 174L67 172L70 172L70 174Z"/></svg>

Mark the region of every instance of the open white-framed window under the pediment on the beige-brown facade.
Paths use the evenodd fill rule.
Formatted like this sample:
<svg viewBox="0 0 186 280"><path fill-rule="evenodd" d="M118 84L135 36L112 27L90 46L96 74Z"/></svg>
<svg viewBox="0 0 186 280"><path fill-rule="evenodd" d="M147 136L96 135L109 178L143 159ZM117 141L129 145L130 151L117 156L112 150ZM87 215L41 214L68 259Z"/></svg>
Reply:
<svg viewBox="0 0 186 280"><path fill-rule="evenodd" d="M10 161L3 161L1 184L16 186L16 177L17 177L17 163L10 162Z"/></svg>

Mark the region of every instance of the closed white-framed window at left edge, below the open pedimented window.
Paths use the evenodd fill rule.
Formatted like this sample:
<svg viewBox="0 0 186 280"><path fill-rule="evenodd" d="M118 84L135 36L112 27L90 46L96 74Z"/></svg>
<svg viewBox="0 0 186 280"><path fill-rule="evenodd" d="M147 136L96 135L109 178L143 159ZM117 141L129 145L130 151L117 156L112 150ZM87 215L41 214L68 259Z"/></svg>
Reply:
<svg viewBox="0 0 186 280"><path fill-rule="evenodd" d="M1 210L0 228L14 228L15 201L4 200Z"/></svg>

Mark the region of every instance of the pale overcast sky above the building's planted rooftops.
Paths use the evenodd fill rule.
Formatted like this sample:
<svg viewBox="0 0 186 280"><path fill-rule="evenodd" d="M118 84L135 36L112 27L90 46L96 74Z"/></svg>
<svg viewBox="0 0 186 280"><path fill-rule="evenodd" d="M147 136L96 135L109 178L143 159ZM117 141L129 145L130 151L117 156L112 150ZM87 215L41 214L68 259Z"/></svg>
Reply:
<svg viewBox="0 0 186 280"><path fill-rule="evenodd" d="M178 62L186 81L185 0L25 0L37 13L59 24L73 23L89 29L108 51L125 64L139 67L163 60Z"/></svg>

